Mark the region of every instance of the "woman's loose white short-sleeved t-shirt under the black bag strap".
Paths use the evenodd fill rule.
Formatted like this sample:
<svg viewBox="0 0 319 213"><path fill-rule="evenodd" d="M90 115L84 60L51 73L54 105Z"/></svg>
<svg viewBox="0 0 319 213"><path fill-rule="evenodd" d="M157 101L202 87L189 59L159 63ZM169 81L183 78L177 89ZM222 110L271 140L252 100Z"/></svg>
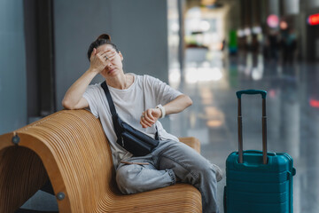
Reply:
<svg viewBox="0 0 319 213"><path fill-rule="evenodd" d="M120 115L123 122L127 122L136 128L136 130L143 131L145 134L155 138L156 128L154 125L144 129L139 123L142 112L148 108L154 108L159 104L165 105L182 93L150 75L128 75L134 76L134 82L128 89L119 90L108 86L116 112ZM83 98L89 102L90 112L99 118L102 123L105 135L110 142L113 164L117 168L121 160L128 159L132 154L116 143L117 137L113 128L112 114L101 83L89 85L83 94ZM159 131L159 138L161 140L173 139L178 141L178 138L168 134L164 130L159 121L155 125Z"/></svg>

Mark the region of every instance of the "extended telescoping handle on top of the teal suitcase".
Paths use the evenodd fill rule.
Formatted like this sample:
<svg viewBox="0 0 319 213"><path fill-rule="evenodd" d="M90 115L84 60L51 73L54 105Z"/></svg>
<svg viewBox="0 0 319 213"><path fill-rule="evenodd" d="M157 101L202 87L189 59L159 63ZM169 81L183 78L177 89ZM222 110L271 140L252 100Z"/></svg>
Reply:
<svg viewBox="0 0 319 213"><path fill-rule="evenodd" d="M238 162L243 163L243 123L241 113L241 95L256 95L261 94L262 99L262 163L267 164L267 117L266 117L266 96L267 91L246 90L237 91L238 98Z"/></svg>

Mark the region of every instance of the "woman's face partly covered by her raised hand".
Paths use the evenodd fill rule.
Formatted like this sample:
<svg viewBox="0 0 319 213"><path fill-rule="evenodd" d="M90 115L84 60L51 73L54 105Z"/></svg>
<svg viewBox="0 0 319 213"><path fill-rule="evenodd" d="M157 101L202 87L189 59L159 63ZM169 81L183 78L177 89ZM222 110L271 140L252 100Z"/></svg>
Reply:
<svg viewBox="0 0 319 213"><path fill-rule="evenodd" d="M107 77L124 73L122 64L123 56L121 55L121 52L115 51L113 46L108 43L97 47L97 53L100 51L107 51L107 58L111 58L106 60L106 66L105 69L101 72L101 75Z"/></svg>

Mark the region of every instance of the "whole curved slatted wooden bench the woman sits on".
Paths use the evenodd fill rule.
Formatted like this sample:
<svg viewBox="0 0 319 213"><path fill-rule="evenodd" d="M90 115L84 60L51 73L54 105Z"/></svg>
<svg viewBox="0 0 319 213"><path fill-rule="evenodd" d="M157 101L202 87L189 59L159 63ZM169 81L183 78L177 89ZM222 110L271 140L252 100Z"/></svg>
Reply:
<svg viewBox="0 0 319 213"><path fill-rule="evenodd" d="M196 138L180 138L199 152ZM59 212L201 212L201 195L176 184L123 195L101 123L62 110L0 136L0 212L14 212L51 180Z"/></svg>

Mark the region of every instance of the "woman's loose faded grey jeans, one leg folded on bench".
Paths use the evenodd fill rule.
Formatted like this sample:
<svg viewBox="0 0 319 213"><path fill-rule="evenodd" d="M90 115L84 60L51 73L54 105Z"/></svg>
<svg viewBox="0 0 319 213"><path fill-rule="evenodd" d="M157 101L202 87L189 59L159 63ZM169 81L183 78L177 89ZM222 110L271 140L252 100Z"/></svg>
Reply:
<svg viewBox="0 0 319 213"><path fill-rule="evenodd" d="M174 185L177 177L183 183L194 185L201 193L203 212L219 212L214 167L190 146L173 140L160 141L152 154L127 161L149 164L119 165L116 182L121 193L140 193Z"/></svg>

